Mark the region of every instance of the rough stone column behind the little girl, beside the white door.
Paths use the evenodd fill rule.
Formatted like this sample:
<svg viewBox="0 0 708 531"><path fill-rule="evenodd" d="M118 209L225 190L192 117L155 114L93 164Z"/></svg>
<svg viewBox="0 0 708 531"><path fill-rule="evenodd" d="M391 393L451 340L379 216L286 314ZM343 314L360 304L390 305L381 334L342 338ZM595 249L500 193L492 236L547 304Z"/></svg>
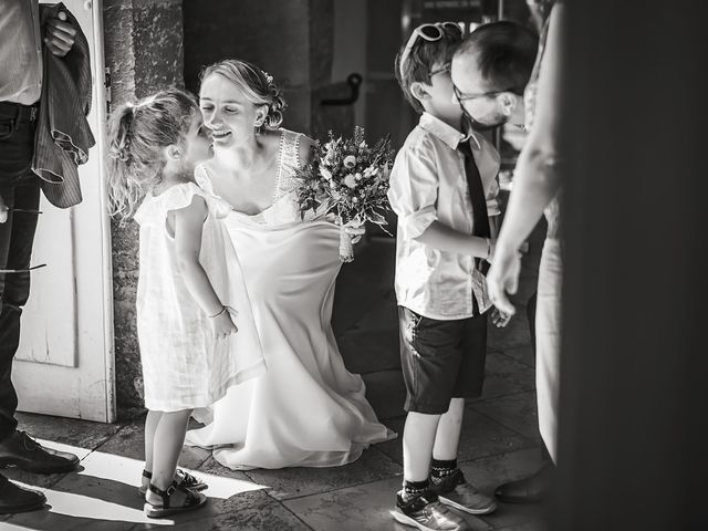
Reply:
<svg viewBox="0 0 708 531"><path fill-rule="evenodd" d="M181 0L105 0L104 43L112 105L184 86ZM113 222L113 296L118 417L143 409L135 324L137 225Z"/></svg>

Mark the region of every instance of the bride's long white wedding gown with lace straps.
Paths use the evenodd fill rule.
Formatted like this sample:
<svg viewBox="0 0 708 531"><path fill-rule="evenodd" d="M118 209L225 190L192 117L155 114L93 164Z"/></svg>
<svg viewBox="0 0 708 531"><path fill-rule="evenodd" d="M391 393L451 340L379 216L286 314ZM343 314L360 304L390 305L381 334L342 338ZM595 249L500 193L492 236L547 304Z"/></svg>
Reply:
<svg viewBox="0 0 708 531"><path fill-rule="evenodd" d="M214 448L232 469L344 465L395 436L378 423L364 382L346 369L336 346L331 316L339 228L321 217L300 219L293 190L299 135L282 135L273 205L226 218L267 371L195 412L206 426L187 434L187 444ZM206 168L197 181L211 189Z"/></svg>

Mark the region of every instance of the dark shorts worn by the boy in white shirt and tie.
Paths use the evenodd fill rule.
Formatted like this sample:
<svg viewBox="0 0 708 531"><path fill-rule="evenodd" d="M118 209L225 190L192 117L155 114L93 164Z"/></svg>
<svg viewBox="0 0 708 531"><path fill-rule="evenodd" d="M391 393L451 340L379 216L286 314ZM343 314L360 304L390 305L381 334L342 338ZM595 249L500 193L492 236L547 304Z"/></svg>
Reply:
<svg viewBox="0 0 708 531"><path fill-rule="evenodd" d="M487 313L454 321L398 306L406 412L441 415L451 398L478 398L485 383Z"/></svg>

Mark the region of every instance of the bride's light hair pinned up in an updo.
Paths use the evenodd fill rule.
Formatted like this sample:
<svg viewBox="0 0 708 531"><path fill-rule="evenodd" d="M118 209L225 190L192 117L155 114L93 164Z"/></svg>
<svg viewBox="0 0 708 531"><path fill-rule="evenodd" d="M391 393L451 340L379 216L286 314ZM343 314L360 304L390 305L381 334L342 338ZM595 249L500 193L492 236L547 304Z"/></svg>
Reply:
<svg viewBox="0 0 708 531"><path fill-rule="evenodd" d="M278 85L273 83L273 76L247 61L227 59L211 64L201 71L199 81L219 74L229 80L246 95L253 105L268 105L268 114L263 126L267 129L277 129L283 123L283 110L285 98Z"/></svg>

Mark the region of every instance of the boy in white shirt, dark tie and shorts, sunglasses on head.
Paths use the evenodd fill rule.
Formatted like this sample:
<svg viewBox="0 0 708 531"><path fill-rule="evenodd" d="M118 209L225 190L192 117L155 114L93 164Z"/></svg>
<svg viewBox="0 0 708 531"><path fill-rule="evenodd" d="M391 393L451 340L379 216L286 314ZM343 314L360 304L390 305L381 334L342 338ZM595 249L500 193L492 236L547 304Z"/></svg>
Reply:
<svg viewBox="0 0 708 531"><path fill-rule="evenodd" d="M485 379L491 304L483 262L500 214L499 155L464 132L452 94L449 64L461 39L452 22L420 25L395 65L421 116L396 156L388 192L398 216L395 283L408 412L394 518L421 530L467 530L457 511L496 509L457 468L465 398L478 397Z"/></svg>

